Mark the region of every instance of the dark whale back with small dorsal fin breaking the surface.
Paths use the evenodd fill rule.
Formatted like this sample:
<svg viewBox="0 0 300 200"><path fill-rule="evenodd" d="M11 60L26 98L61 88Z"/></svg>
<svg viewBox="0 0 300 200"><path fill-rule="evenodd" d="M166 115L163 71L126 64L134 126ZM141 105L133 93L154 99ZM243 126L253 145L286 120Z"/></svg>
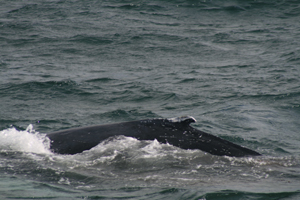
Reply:
<svg viewBox="0 0 300 200"><path fill-rule="evenodd" d="M59 154L76 154L89 150L103 140L124 135L138 140L154 140L169 143L182 149L200 149L218 156L258 156L251 149L239 146L217 136L190 126L193 117L168 119L146 119L107 125L72 128L47 136L51 140L51 150Z"/></svg>

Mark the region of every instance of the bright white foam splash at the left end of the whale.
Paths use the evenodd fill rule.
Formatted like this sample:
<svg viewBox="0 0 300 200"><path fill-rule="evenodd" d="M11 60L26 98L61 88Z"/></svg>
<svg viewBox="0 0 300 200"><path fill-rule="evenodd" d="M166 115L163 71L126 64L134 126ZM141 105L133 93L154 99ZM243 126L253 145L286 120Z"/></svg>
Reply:
<svg viewBox="0 0 300 200"><path fill-rule="evenodd" d="M9 128L0 131L0 151L18 151L37 154L51 154L50 140L35 132L30 124L25 131Z"/></svg>

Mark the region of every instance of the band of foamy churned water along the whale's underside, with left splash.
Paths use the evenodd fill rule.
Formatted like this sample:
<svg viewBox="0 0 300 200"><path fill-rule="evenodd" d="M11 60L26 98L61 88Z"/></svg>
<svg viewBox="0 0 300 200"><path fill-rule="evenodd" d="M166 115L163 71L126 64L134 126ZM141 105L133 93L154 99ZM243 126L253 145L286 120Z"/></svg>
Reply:
<svg viewBox="0 0 300 200"><path fill-rule="evenodd" d="M158 162L168 163L178 162L177 159L194 165L196 168L208 167L211 169L212 166L204 166L206 164L228 163L230 166L234 165L250 165L250 166L286 166L295 167L300 163L296 158L291 156L274 157L274 156L261 156L261 157L245 157L245 158L234 158L224 156L213 156L204 153L200 150L183 150L178 147L174 147L169 144L161 144L156 140L140 141L135 138L116 136L108 138L101 142L94 148L84 151L80 154L75 155L60 155L54 154L50 150L50 140L43 133L39 133L34 130L33 125L29 125L26 130L17 130L14 127L4 129L0 131L0 151L1 152L27 152L35 154L44 154L45 156L56 156L63 159L74 161L88 161L96 164L94 158L103 159L103 157L110 155L110 160L114 162L129 161L135 162L139 159L147 158L161 158ZM165 160L165 158L170 160ZM202 164L201 164L202 163ZM150 163L149 163L150 164ZM150 164L153 165L153 164ZM69 166L74 168L74 166ZM242 172L244 173L244 172Z"/></svg>

